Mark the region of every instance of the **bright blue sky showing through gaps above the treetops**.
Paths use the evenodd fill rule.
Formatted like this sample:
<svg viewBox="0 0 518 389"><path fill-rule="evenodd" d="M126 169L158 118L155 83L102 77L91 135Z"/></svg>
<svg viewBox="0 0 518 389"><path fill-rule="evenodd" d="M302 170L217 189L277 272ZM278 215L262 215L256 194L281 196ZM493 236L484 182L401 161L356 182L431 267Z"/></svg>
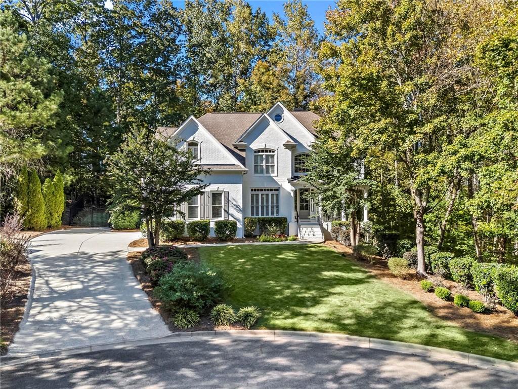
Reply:
<svg viewBox="0 0 518 389"><path fill-rule="evenodd" d="M183 7L183 0L173 0L172 3L177 7ZM261 8L263 12L266 12L271 21L272 13L276 12L282 15L284 0L248 0L248 3L250 3L254 10ZM315 27L323 34L325 11L329 7L334 8L335 0L303 0L303 3L308 6L308 12L311 19L315 21ZM113 8L112 1L106 0L105 7L108 9Z"/></svg>

